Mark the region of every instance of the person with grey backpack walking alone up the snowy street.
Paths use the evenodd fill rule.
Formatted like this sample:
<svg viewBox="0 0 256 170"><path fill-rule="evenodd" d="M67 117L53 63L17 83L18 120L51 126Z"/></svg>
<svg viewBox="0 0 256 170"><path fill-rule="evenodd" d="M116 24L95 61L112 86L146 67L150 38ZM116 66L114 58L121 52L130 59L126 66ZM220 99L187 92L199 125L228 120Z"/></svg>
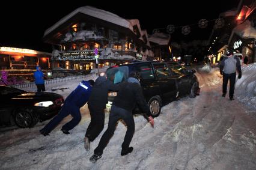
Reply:
<svg viewBox="0 0 256 170"><path fill-rule="evenodd" d="M234 100L236 71L238 71L238 79L240 79L242 77L242 71L239 58L237 56L233 56L233 51L229 50L227 52L227 58L224 58L221 61L220 73L223 75L222 97L225 97L227 94L228 80L230 80L230 100Z"/></svg>

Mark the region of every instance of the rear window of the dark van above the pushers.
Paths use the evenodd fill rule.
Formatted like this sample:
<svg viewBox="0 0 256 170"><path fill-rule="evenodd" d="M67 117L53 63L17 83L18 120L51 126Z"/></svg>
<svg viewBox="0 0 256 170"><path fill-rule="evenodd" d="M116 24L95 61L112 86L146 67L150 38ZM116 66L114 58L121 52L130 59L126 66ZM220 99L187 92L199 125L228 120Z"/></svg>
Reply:
<svg viewBox="0 0 256 170"><path fill-rule="evenodd" d="M128 77L128 67L114 67L109 68L106 71L107 77L114 83L120 83L127 79Z"/></svg>

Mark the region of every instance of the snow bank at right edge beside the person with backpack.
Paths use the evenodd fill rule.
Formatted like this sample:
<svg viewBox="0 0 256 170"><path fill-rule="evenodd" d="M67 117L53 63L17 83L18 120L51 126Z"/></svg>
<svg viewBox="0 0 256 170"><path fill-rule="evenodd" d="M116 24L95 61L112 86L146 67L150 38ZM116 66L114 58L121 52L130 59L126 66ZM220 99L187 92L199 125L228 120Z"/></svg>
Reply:
<svg viewBox="0 0 256 170"><path fill-rule="evenodd" d="M256 63L242 67L241 79L236 79L235 96L246 106L256 109Z"/></svg>

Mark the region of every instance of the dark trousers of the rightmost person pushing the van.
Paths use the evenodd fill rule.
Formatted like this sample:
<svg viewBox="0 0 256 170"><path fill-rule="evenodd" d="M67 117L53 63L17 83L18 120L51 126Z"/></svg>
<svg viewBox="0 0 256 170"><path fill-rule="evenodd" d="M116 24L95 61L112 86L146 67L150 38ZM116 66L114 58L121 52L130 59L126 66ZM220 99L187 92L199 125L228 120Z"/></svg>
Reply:
<svg viewBox="0 0 256 170"><path fill-rule="evenodd" d="M118 108L112 105L111 112L109 114L108 129L103 134L100 139L98 147L94 150L94 154L102 155L104 148L108 144L109 139L114 135L115 127L118 120L124 120L127 126L126 136L124 136L124 142L122 144L122 150L127 150L129 148L130 142L135 131L135 124L133 120L132 112L126 111L125 109Z"/></svg>

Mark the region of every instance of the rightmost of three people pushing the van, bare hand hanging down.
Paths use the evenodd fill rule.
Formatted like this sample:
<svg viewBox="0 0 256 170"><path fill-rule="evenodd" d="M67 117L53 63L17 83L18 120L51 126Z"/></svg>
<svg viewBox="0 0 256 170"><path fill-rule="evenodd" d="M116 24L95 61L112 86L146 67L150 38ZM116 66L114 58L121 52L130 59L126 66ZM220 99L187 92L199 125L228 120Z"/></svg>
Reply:
<svg viewBox="0 0 256 170"><path fill-rule="evenodd" d="M120 119L123 120L127 126L126 135L124 136L124 141L121 146L121 156L125 156L133 151L133 147L129 147L129 145L132 141L133 133L135 132L132 111L135 108L136 103L138 103L142 111L147 115L151 126L154 125L154 120L150 116L150 109L142 94L141 85L139 84L139 80L135 79L135 75L136 73L134 72L130 74L129 79L121 85L120 90L112 103L108 129L100 139L99 145L94 150L93 156L90 157L90 161L93 163L97 162L97 159L102 157L103 150L108 144L109 139L114 135L116 124Z"/></svg>

